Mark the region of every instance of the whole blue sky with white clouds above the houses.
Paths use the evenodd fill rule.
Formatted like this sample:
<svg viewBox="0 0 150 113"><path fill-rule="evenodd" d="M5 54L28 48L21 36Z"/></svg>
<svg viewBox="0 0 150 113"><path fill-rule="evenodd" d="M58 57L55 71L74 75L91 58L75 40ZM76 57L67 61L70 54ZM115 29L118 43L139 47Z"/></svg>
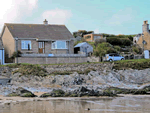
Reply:
<svg viewBox="0 0 150 113"><path fill-rule="evenodd" d="M78 30L138 34L150 23L150 0L0 0L0 32L4 23L64 24Z"/></svg>

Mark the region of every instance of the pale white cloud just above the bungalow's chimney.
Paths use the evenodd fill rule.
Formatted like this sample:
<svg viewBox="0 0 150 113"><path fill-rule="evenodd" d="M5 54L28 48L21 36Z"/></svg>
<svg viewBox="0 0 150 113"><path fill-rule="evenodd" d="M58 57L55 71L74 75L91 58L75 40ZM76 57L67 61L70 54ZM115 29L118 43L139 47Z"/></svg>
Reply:
<svg viewBox="0 0 150 113"><path fill-rule="evenodd" d="M71 18L70 10L54 9L45 11L42 15L43 20L47 19L49 24L65 24Z"/></svg>

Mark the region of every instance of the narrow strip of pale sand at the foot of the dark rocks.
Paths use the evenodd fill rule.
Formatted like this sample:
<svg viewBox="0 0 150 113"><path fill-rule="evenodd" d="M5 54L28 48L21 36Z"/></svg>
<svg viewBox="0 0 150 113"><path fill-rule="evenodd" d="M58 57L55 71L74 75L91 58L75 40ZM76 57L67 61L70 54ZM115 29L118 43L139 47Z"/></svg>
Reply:
<svg viewBox="0 0 150 113"><path fill-rule="evenodd" d="M43 93L43 92L40 92ZM118 94L118 97L109 97L109 96L91 96L91 97L5 97L0 95L0 106L2 105L9 105L9 104L18 104L21 102L32 102L32 101L50 101L50 100L90 100L90 99L115 99L119 97L149 97L150 95L132 95L132 94Z"/></svg>

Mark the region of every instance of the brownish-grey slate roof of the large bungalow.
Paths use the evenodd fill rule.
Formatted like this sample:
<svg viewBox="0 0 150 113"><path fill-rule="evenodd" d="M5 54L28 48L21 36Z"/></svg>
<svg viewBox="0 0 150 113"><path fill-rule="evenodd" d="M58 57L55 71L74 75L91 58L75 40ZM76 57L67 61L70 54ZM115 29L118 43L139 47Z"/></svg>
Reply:
<svg viewBox="0 0 150 113"><path fill-rule="evenodd" d="M13 37L69 40L74 38L65 25L5 23Z"/></svg>

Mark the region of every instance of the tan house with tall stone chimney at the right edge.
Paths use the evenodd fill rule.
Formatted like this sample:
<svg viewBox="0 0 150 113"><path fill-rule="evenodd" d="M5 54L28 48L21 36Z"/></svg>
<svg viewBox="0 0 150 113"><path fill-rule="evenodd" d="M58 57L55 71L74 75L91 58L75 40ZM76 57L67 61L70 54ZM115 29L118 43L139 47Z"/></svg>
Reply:
<svg viewBox="0 0 150 113"><path fill-rule="evenodd" d="M143 50L150 50L150 30L147 20L144 21L142 25L142 31L143 35L139 35L136 44L138 44Z"/></svg>

